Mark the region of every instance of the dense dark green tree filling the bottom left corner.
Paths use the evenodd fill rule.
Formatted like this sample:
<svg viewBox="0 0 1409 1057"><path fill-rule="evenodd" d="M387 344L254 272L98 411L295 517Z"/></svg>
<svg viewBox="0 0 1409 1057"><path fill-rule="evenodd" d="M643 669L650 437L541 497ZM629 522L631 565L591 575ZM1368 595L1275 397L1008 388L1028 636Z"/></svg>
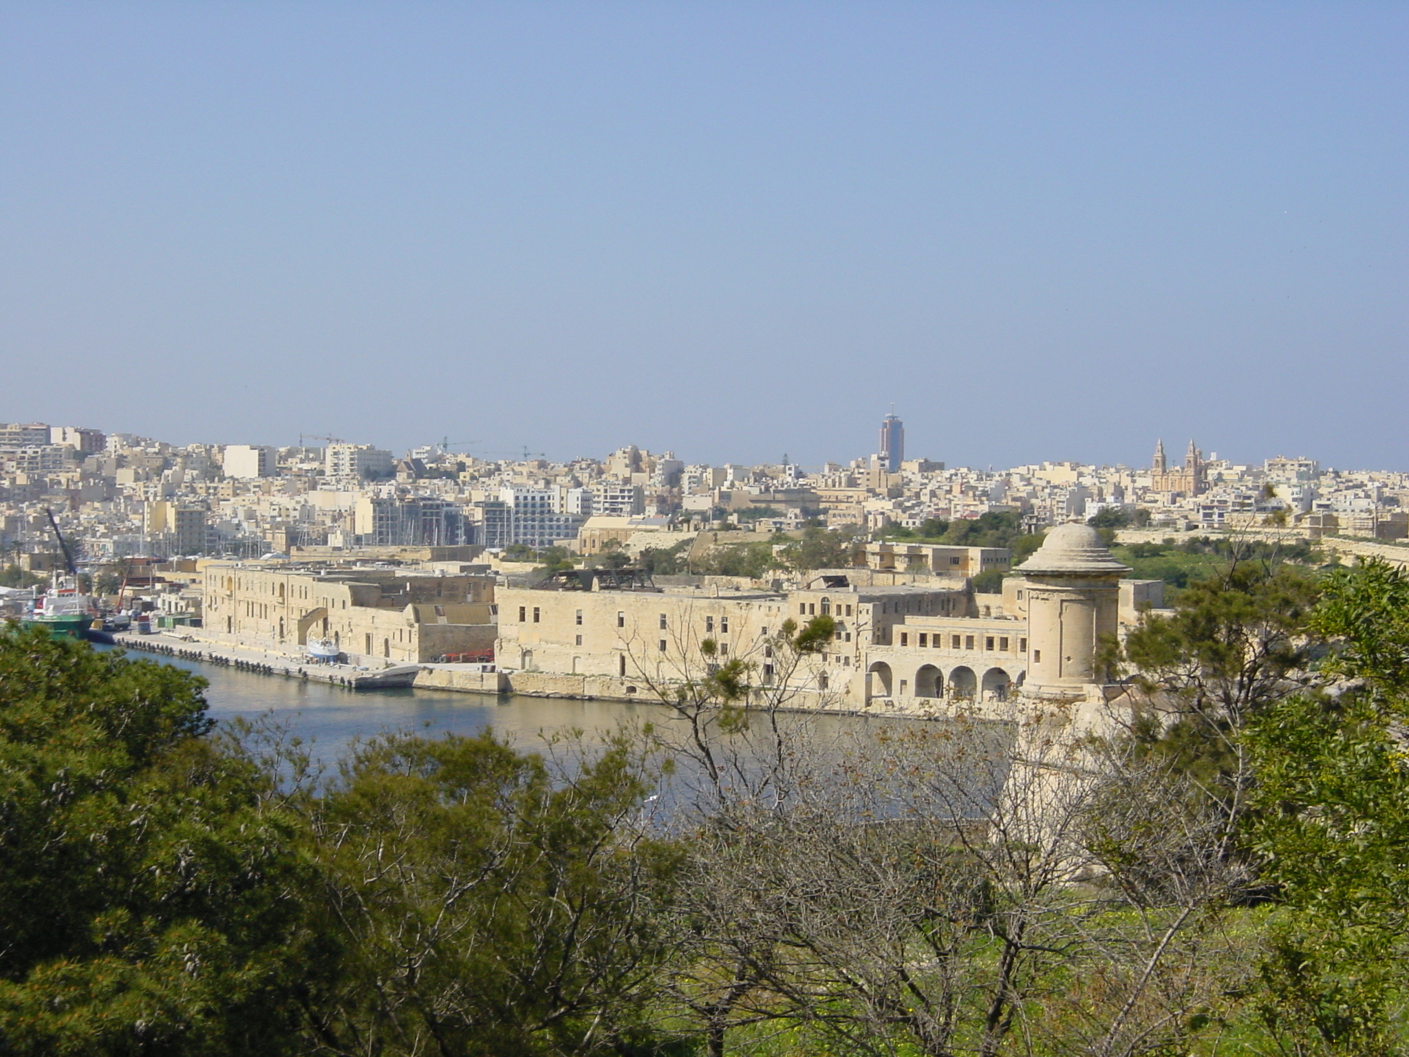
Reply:
<svg viewBox="0 0 1409 1057"><path fill-rule="evenodd" d="M204 682L0 634L0 1040L278 1054L317 979L296 822L207 737Z"/></svg>

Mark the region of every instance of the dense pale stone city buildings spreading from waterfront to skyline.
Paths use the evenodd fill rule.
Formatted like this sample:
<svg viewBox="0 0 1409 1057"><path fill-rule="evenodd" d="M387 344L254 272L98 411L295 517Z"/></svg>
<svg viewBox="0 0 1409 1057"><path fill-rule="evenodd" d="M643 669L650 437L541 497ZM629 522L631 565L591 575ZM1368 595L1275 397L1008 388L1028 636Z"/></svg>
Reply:
<svg viewBox="0 0 1409 1057"><path fill-rule="evenodd" d="M1310 537L1409 534L1405 474L1281 457L1240 465L1193 443L1181 464L1157 444L1148 468L951 469L906 458L895 414L875 455L807 469L788 459L686 464L635 447L566 462L476 458L447 445L397 458L317 440L173 445L86 427L0 426L4 564L52 568L52 512L89 571L120 572L145 592L144 605L210 641L285 654L325 641L361 665L492 657L520 692L585 696L630 698L672 671L740 655L772 678L769 650L783 622L823 614L834 640L795 674L799 692L859 706L1002 698L1033 679L1061 685L1091 667L1071 643L1161 605L1161 585L1123 578L1086 537L1044 547L1045 565L1033 558L1013 571L1002 548L868 538L888 524L1007 512L1036 530L1117 510L1171 531L1277 524ZM809 524L858 534L854 564L744 581L623 576L619 561L530 582L521 571L533 562L511 562L547 547L589 564L616 550L630 561L650 547L688 545L699 557ZM1000 593L975 593L974 579L992 571L1020 575ZM1038 645L1053 629L1058 638ZM714 653L700 651L706 640Z"/></svg>

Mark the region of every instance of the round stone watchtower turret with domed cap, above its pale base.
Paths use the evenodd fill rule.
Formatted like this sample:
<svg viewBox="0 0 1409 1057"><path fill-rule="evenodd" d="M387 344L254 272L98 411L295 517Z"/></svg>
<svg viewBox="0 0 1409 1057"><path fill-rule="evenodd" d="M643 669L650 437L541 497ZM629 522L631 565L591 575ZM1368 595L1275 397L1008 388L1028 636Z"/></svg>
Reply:
<svg viewBox="0 0 1409 1057"><path fill-rule="evenodd" d="M1023 693L1085 698L1095 684L1096 651L1113 637L1120 613L1119 579L1130 572L1086 524L1060 524L1017 567L1027 592L1027 678Z"/></svg>

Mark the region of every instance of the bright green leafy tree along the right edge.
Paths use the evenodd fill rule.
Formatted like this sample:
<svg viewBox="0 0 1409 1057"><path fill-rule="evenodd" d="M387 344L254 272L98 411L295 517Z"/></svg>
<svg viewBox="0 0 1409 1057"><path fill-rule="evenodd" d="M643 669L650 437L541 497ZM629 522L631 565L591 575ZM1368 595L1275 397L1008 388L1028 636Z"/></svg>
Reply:
<svg viewBox="0 0 1409 1057"><path fill-rule="evenodd" d="M1395 1053L1409 991L1409 576L1333 571L1310 629L1327 693L1253 720L1255 847L1286 913L1262 964L1270 1027L1306 1054Z"/></svg>

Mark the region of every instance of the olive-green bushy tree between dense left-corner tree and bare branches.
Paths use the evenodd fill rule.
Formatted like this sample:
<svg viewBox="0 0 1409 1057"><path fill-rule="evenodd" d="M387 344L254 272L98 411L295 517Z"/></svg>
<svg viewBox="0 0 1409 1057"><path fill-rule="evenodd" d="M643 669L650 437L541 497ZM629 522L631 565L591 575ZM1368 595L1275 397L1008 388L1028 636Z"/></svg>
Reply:
<svg viewBox="0 0 1409 1057"><path fill-rule="evenodd" d="M561 747L559 747L561 748ZM585 1054L648 1034L676 848L623 741L544 760L485 733L362 746L316 806L347 951L327 1053Z"/></svg>

